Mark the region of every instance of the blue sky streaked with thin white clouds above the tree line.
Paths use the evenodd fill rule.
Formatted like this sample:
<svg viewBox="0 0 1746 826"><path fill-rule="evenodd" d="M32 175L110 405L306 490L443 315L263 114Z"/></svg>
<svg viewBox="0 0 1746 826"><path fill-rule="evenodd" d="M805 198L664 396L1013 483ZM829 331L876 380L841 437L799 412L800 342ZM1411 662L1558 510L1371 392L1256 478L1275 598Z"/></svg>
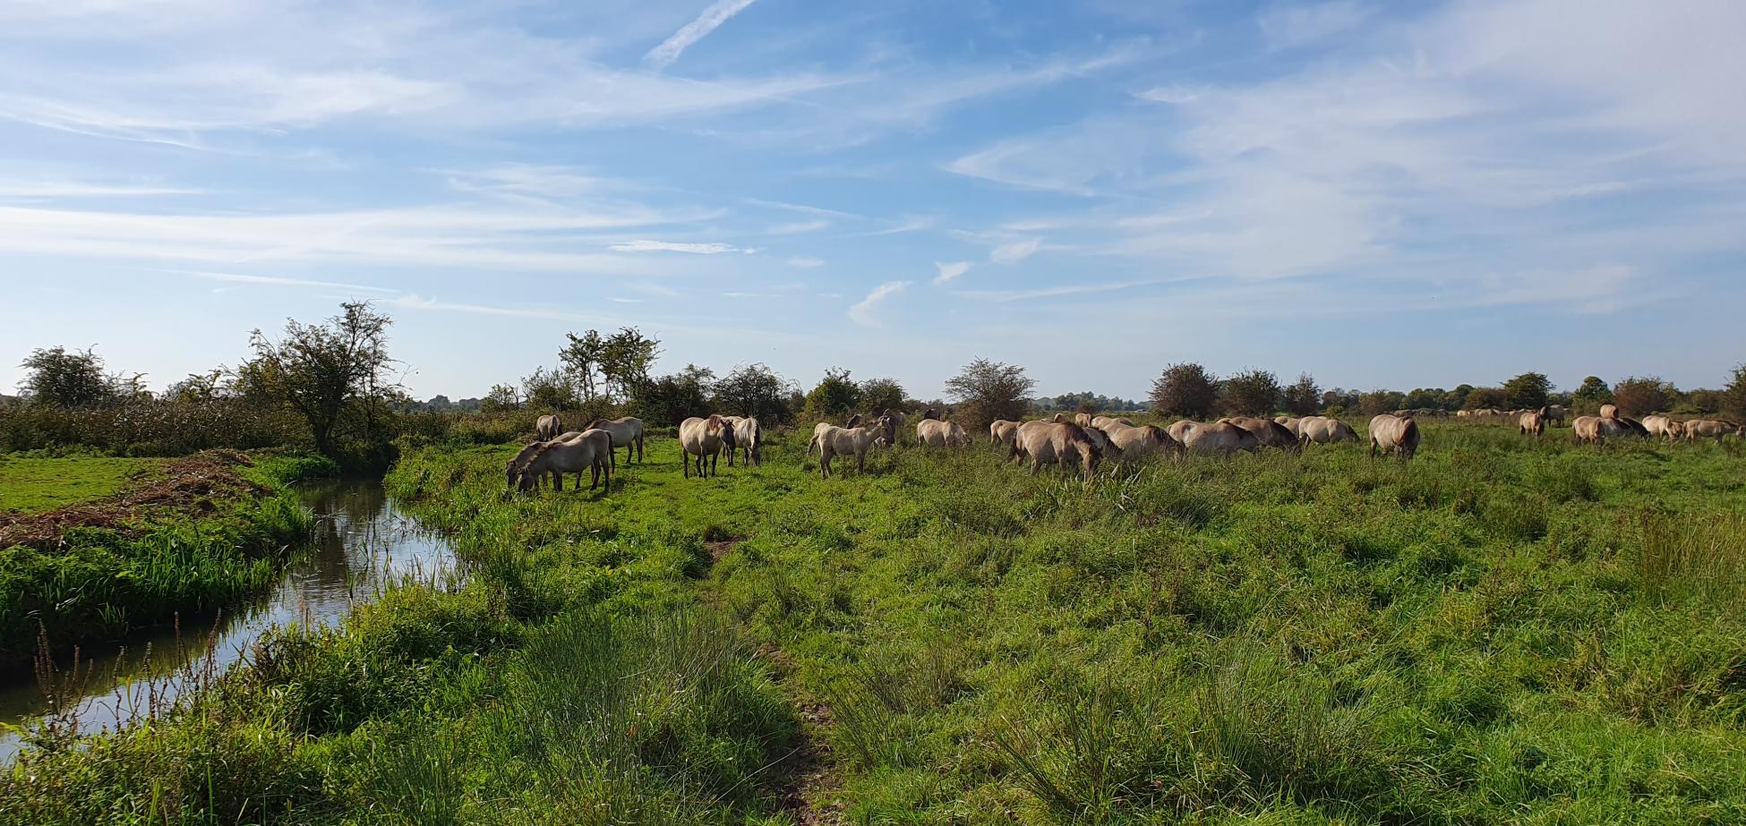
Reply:
<svg viewBox="0 0 1746 826"><path fill-rule="evenodd" d="M636 325L918 396L1718 386L1746 3L0 5L0 388L374 299L416 395Z"/></svg>

